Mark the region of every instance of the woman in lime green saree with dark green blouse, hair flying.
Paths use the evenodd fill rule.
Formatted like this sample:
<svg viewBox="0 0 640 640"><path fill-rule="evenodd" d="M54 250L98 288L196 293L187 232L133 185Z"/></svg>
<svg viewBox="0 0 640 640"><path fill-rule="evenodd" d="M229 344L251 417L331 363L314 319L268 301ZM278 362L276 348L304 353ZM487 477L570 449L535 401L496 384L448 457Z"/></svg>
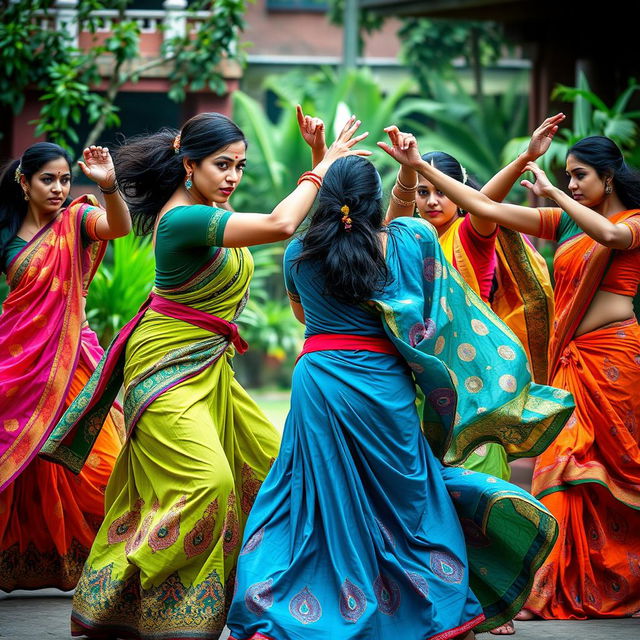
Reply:
<svg viewBox="0 0 640 640"><path fill-rule="evenodd" d="M149 300L110 345L45 452L79 470L120 385L128 440L107 487L105 522L76 589L72 634L218 638L242 532L279 434L230 366L253 272L248 245L283 240L322 176L366 134L351 118L325 160L269 215L219 208L246 141L204 113L121 148L116 171L141 233L153 233Z"/></svg>

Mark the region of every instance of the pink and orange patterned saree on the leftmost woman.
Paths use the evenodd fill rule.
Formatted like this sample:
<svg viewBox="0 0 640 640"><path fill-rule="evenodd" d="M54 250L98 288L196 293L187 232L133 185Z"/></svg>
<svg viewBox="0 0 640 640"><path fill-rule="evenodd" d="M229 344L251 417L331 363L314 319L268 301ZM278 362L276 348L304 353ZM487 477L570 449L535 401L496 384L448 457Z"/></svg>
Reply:
<svg viewBox="0 0 640 640"><path fill-rule="evenodd" d="M83 245L83 225L91 237L103 215L96 204L90 196L75 200L7 270L0 316L0 589L7 591L75 586L121 446L122 416L114 411L81 476L36 458L102 355L82 327L83 294L106 248Z"/></svg>

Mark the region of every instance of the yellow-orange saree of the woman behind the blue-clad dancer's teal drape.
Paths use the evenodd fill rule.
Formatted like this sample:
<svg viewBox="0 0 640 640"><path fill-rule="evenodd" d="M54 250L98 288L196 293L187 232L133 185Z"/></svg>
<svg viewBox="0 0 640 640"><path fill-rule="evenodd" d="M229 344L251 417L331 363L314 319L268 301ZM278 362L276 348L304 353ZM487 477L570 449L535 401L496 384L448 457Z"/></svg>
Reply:
<svg viewBox="0 0 640 640"><path fill-rule="evenodd" d="M462 225L466 220L458 218L441 236L444 255L516 334L526 351L533 379L545 383L553 318L553 290L545 261L524 235L502 227L498 227L490 254L472 251L479 243L465 237ZM480 246L487 253L486 240ZM485 295L478 274L486 271L489 262L494 267L494 288ZM482 445L467 458L465 466L504 480L510 477L506 453L497 444Z"/></svg>

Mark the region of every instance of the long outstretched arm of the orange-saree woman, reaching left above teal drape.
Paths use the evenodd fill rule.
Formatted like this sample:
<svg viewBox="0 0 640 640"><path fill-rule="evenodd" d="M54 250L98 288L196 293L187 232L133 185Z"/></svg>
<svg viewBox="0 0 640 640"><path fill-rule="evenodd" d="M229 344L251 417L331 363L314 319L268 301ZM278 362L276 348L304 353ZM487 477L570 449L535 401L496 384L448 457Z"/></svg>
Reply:
<svg viewBox="0 0 640 640"><path fill-rule="evenodd" d="M537 209L494 202L484 193L450 178L420 157L415 140L410 142L406 150L386 142L378 142L378 146L400 164L407 165L424 176L458 206L473 211L479 218L529 235L540 233L540 212Z"/></svg>

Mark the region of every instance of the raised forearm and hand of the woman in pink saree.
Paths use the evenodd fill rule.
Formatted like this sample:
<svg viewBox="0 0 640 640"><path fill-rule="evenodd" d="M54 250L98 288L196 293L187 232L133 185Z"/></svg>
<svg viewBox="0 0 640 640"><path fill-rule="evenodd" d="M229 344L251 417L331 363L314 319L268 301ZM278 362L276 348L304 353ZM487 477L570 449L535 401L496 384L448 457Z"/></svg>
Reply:
<svg viewBox="0 0 640 640"><path fill-rule="evenodd" d="M83 173L93 180L104 196L105 216L96 222L96 234L102 240L126 236L131 230L131 216L126 202L118 191L113 160L107 147L87 147L78 162Z"/></svg>

